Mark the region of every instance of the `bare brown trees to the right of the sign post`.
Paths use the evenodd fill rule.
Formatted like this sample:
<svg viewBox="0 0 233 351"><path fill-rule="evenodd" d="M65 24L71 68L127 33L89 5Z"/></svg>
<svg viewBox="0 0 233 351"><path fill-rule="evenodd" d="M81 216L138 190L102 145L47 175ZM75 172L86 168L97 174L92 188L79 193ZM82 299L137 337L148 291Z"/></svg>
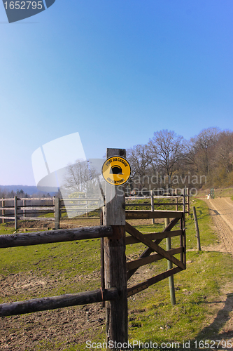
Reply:
<svg viewBox="0 0 233 351"><path fill-rule="evenodd" d="M190 140L174 131L154 133L146 145L127 150L131 189L233 186L233 132L206 128Z"/></svg>

